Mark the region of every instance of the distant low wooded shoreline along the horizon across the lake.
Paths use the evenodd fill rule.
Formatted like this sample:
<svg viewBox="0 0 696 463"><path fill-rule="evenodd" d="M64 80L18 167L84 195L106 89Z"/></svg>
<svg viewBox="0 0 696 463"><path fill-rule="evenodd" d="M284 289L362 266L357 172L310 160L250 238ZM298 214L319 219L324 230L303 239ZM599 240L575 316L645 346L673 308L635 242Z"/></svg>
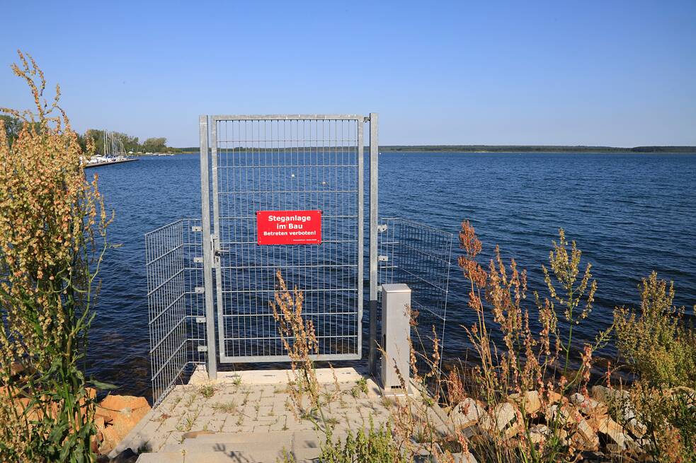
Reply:
<svg viewBox="0 0 696 463"><path fill-rule="evenodd" d="M327 146L326 148L333 148ZM198 146L176 148L178 153L198 153ZM266 148L256 148L267 151ZM278 148L268 148L275 151ZM365 146L365 152L369 148ZM564 145L384 145L380 152L389 153L688 153L695 154L696 146L564 146ZM178 154L176 153L176 154Z"/></svg>

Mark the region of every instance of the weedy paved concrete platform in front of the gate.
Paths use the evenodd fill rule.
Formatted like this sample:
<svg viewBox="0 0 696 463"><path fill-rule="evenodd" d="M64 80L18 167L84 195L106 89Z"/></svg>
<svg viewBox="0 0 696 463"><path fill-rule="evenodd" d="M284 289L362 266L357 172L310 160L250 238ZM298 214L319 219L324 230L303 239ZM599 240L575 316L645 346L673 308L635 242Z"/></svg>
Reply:
<svg viewBox="0 0 696 463"><path fill-rule="evenodd" d="M324 426L343 437L348 430L368 428L370 420L381 426L389 419L393 399L383 398L380 387L358 370L322 368L316 376L326 422L297 413L288 370L220 373L215 381L196 371L110 455L130 447L142 453L138 462L275 462L287 451L298 462L311 461L319 456Z"/></svg>

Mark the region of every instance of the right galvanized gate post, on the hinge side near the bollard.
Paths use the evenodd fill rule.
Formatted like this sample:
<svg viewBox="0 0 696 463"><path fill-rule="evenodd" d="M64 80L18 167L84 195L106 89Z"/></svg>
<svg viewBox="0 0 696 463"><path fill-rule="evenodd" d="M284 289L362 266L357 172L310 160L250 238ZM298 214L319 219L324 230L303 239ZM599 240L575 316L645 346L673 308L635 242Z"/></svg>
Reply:
<svg viewBox="0 0 696 463"><path fill-rule="evenodd" d="M370 112L370 375L377 376L377 166L380 146L377 139L377 113Z"/></svg>

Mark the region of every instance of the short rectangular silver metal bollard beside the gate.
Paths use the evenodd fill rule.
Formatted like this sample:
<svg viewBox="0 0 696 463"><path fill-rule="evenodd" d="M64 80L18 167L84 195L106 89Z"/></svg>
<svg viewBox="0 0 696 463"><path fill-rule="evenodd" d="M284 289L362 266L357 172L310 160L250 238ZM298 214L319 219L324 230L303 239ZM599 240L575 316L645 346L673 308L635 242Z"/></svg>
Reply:
<svg viewBox="0 0 696 463"><path fill-rule="evenodd" d="M406 388L409 387L410 307L411 288L408 285L382 285L382 387L385 392L401 389L399 375Z"/></svg>

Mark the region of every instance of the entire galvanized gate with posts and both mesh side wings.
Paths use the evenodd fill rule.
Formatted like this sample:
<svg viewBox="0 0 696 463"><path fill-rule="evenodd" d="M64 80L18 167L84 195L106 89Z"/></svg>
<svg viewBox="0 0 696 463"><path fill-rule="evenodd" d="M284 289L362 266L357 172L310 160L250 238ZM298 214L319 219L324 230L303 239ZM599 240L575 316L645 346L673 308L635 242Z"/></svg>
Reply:
<svg viewBox="0 0 696 463"><path fill-rule="evenodd" d="M441 343L453 237L401 219L378 222L375 113L201 116L199 125L202 220L183 219L145 236L155 404L197 368L205 365L217 377L218 359L290 360L269 304L276 271L304 293L302 316L319 340L314 358L361 358L365 170L370 373L377 373L380 283L411 286L423 326L412 336L423 353L432 352L431 333ZM321 211L321 244L261 244L257 223L270 211Z"/></svg>

